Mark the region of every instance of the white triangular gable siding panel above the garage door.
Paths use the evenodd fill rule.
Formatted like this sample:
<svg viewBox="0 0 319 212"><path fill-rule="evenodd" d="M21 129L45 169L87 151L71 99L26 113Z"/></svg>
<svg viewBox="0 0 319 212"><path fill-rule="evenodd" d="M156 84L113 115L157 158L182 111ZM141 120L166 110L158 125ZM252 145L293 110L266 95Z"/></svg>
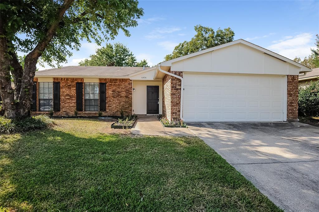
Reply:
<svg viewBox="0 0 319 212"><path fill-rule="evenodd" d="M234 44L172 63L172 71L298 75L300 67L242 44Z"/></svg>

